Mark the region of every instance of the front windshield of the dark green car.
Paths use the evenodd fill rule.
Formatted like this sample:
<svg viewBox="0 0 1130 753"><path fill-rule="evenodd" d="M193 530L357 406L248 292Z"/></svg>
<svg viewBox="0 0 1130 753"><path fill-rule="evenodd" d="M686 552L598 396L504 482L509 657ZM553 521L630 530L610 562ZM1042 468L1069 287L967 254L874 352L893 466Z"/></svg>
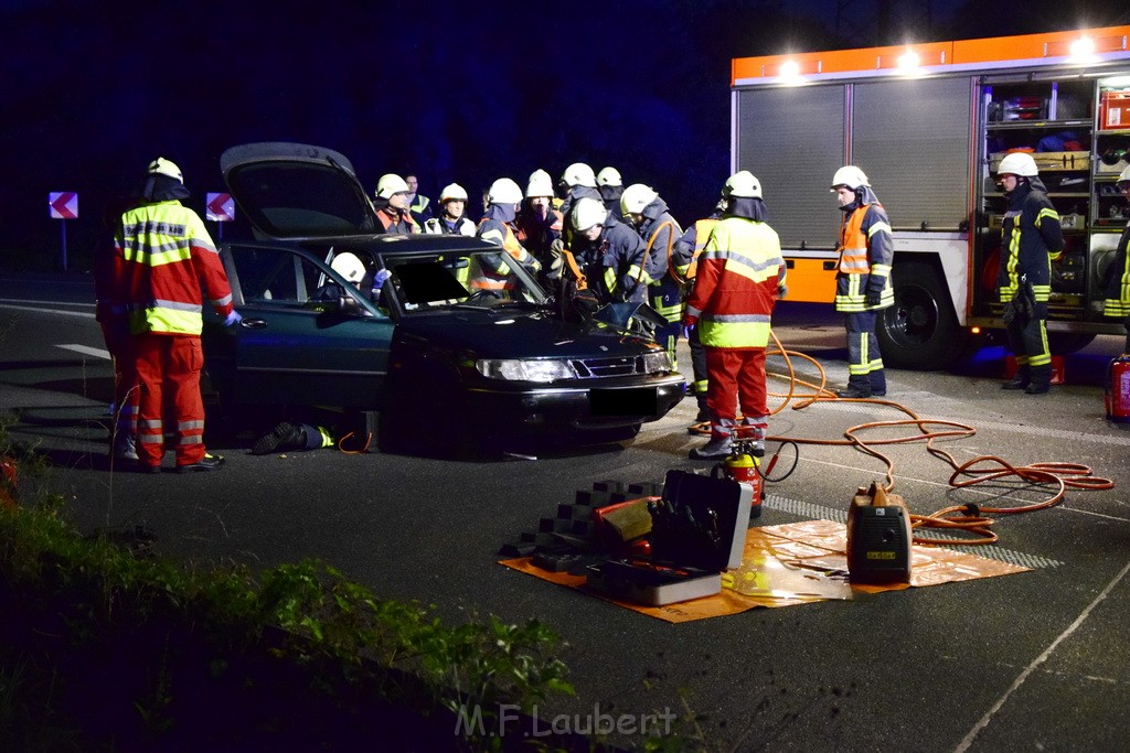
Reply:
<svg viewBox="0 0 1130 753"><path fill-rule="evenodd" d="M397 255L382 259L405 310L539 304L546 295L532 273L503 249Z"/></svg>

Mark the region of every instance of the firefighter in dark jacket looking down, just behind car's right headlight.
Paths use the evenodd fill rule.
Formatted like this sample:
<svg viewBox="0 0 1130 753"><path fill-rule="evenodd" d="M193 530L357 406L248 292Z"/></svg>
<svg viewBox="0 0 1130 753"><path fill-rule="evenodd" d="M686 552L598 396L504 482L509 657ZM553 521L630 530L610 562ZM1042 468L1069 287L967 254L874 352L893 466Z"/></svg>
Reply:
<svg viewBox="0 0 1130 753"><path fill-rule="evenodd" d="M644 245L651 248L644 265L647 303L668 322L655 331L655 341L671 353L673 361L683 329L679 324L683 317L683 286L668 273L668 256L673 252L676 238L683 235L683 228L671 217L667 202L654 189L642 183L633 183L624 190L620 211L636 228Z"/></svg>

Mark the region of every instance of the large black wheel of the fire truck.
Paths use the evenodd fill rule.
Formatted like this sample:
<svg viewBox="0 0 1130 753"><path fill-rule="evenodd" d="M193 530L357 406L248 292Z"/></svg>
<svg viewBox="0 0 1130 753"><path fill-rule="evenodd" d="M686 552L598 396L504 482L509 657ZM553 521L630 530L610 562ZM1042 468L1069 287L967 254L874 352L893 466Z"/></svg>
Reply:
<svg viewBox="0 0 1130 753"><path fill-rule="evenodd" d="M945 368L967 338L949 291L929 264L899 264L893 274L895 305L879 312L876 326L884 364L924 371Z"/></svg>

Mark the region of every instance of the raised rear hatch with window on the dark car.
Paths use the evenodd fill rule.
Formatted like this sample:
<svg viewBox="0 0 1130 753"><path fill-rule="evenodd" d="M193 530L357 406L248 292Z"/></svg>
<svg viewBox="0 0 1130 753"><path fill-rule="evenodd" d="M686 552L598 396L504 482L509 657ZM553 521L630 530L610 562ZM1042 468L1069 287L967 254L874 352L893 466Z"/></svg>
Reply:
<svg viewBox="0 0 1130 753"><path fill-rule="evenodd" d="M240 210L267 238L305 240L381 231L353 164L332 149L281 141L247 143L227 149L219 165Z"/></svg>

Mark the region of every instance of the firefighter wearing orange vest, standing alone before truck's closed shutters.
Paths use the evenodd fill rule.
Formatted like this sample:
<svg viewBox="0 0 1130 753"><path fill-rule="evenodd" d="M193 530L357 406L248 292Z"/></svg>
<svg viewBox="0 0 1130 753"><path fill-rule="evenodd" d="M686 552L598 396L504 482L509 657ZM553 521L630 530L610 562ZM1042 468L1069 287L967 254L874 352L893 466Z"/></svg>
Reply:
<svg viewBox="0 0 1130 753"><path fill-rule="evenodd" d="M840 221L840 269L836 310L847 331L847 387L836 396L860 400L887 394L883 353L875 336L878 312L895 303L890 287L894 244L890 221L863 170L846 165L832 177L843 218Z"/></svg>

